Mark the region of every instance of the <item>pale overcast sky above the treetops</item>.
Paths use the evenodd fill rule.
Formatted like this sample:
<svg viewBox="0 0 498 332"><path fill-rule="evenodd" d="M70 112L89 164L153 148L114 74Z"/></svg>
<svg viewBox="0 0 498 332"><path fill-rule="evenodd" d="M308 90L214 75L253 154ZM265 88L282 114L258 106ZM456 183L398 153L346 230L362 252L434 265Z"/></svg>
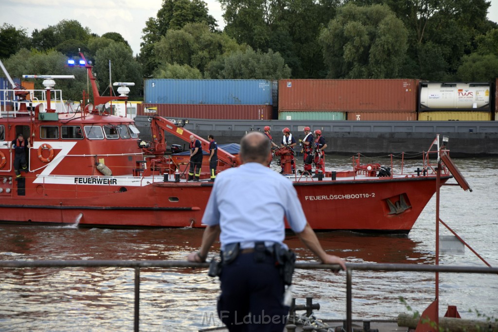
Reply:
<svg viewBox="0 0 498 332"><path fill-rule="evenodd" d="M220 3L204 0L209 13L225 26ZM162 0L0 0L0 24L17 29L44 29L63 19L74 19L93 33L119 32L130 44L133 54L140 52L142 29L149 17L155 17ZM498 22L498 0L491 0L488 18Z"/></svg>

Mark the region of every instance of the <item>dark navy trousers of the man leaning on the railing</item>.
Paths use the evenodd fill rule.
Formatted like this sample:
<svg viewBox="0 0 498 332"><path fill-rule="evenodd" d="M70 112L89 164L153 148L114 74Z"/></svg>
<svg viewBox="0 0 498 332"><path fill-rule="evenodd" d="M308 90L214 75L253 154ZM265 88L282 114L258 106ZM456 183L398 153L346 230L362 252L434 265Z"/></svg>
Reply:
<svg viewBox="0 0 498 332"><path fill-rule="evenodd" d="M220 275L218 316L230 332L282 332L289 313L283 305L284 284L275 259L254 262L254 253L239 254Z"/></svg>

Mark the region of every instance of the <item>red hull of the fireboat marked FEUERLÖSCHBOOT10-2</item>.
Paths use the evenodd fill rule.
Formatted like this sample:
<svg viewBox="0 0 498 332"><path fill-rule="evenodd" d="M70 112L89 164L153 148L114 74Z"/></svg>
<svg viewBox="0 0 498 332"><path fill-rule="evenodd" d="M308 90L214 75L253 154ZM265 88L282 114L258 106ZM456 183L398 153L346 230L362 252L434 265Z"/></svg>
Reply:
<svg viewBox="0 0 498 332"><path fill-rule="evenodd" d="M442 178L442 182L450 176ZM3 222L203 227L211 183L159 182L96 197L4 198ZM435 177L303 181L294 186L316 230L408 233L436 191ZM139 198L139 199L138 199Z"/></svg>

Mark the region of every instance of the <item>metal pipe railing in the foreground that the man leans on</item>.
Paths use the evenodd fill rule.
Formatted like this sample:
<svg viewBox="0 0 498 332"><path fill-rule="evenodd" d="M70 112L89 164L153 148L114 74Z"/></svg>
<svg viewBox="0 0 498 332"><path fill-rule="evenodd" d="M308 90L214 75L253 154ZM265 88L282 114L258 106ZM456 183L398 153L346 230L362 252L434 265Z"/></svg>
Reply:
<svg viewBox="0 0 498 332"><path fill-rule="evenodd" d="M192 263L175 260L31 260L0 261L0 268L65 268L65 267L119 267L134 269L134 320L133 331L139 331L140 269L141 268L208 268L209 263ZM346 264L346 331L352 331L353 271L402 271L436 273L498 274L498 268L477 266L357 263ZM338 271L339 265L296 263L296 269L322 269Z"/></svg>

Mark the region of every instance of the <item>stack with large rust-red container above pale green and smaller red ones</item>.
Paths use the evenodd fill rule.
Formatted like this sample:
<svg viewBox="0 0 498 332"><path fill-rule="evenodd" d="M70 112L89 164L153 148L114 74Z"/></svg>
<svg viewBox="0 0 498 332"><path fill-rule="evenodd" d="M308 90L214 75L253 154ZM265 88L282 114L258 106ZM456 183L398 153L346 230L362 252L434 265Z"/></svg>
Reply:
<svg viewBox="0 0 498 332"><path fill-rule="evenodd" d="M280 80L280 120L417 120L418 80Z"/></svg>

